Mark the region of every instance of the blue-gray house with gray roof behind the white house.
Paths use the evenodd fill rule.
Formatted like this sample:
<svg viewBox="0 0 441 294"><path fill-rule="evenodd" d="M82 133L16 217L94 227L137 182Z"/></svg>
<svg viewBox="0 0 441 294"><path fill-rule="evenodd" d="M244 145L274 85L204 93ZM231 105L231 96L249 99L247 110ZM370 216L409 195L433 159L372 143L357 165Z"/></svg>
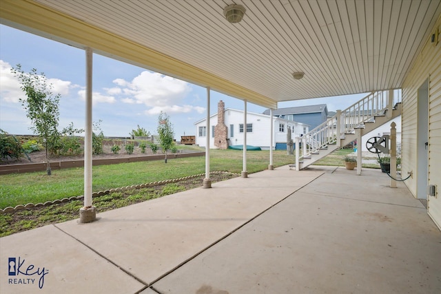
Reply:
<svg viewBox="0 0 441 294"><path fill-rule="evenodd" d="M263 114L269 115L269 109ZM327 120L328 109L326 104L286 107L273 110L273 115L286 120L294 120L298 123L309 125L309 129L314 129Z"/></svg>

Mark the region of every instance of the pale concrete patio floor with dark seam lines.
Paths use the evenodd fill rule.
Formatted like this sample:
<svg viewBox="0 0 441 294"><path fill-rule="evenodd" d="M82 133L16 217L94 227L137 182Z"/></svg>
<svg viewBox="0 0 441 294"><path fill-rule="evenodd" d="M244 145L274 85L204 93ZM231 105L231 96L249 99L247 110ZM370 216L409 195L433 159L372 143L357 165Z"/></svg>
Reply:
<svg viewBox="0 0 441 294"><path fill-rule="evenodd" d="M17 233L0 293L441 293L441 232L388 185L280 167Z"/></svg>

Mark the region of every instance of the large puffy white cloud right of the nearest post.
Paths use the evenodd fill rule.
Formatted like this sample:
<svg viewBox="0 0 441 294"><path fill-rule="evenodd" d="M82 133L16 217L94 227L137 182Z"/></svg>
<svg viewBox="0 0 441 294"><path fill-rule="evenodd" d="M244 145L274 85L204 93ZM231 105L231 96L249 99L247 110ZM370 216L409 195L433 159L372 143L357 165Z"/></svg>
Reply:
<svg viewBox="0 0 441 294"><path fill-rule="evenodd" d="M174 112L183 113L191 111L189 105L178 106L192 91L190 84L185 81L144 71L131 82L127 82L122 78L116 78L113 82L123 87L123 93L126 96L132 96L136 103L152 107L149 110L151 113L158 113L158 107L163 111L166 111L166 109L174 109Z"/></svg>

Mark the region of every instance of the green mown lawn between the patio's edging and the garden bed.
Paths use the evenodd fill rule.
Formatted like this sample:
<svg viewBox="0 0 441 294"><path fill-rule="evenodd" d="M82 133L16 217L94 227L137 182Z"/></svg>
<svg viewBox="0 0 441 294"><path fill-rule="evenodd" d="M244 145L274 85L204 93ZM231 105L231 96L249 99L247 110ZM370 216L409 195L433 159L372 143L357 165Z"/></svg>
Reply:
<svg viewBox="0 0 441 294"><path fill-rule="evenodd" d="M240 174L243 169L242 156L243 151L238 150L210 150L210 170ZM294 162L294 156L287 156L286 151L274 151L275 167L292 162ZM247 152L249 174L266 169L268 164L269 151ZM192 158L170 156L167 164L163 160L157 160L101 165L93 167L92 190L103 191L203 173L205 173L205 156ZM83 168L52 171L52 176L46 176L45 172L38 171L1 175L0 208L80 196L83 194L83 185Z"/></svg>

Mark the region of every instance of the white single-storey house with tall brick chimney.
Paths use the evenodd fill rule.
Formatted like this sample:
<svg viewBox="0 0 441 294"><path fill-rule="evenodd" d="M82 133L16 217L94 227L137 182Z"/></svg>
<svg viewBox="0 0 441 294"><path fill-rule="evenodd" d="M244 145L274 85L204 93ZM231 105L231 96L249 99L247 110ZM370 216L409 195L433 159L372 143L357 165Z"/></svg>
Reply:
<svg viewBox="0 0 441 294"><path fill-rule="evenodd" d="M247 145L257 146L269 150L271 117L267 114L247 112L247 126L243 125L243 110L227 108L225 103L219 101L218 112L210 116L209 125L211 148L227 149L229 145L243 145L243 132L247 132ZM291 138L302 136L309 132L309 125L297 123L273 116L273 147L274 149L287 148L287 134L291 132ZM196 145L207 145L207 119L198 120L196 126Z"/></svg>

